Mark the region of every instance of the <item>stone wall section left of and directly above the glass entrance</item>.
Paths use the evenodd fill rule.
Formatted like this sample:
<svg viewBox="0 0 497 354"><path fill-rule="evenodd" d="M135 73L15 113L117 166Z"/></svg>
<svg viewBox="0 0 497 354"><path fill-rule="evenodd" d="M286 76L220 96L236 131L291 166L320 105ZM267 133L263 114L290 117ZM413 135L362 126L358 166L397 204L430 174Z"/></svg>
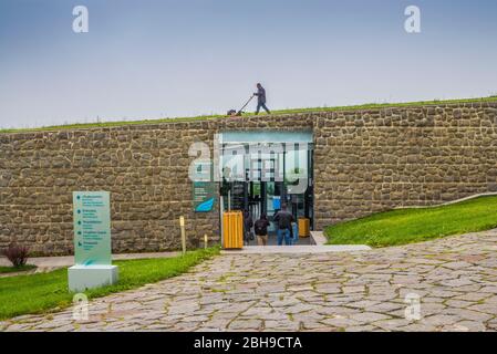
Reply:
<svg viewBox="0 0 497 354"><path fill-rule="evenodd" d="M72 191L110 190L114 252L174 250L185 216L189 247L219 241L219 209L193 212L188 166L195 142L220 129L311 128L310 116L256 117L0 134L0 249L73 252Z"/></svg>

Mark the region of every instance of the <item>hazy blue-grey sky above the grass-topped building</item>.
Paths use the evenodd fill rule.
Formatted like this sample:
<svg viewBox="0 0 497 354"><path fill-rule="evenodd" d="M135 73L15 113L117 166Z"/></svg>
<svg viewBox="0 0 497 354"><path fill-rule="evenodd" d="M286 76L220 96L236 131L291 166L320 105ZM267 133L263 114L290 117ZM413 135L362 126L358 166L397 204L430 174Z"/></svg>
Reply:
<svg viewBox="0 0 497 354"><path fill-rule="evenodd" d="M421 33L404 29L412 4ZM272 110L494 95L496 14L495 0L0 0L0 127L226 113L258 82Z"/></svg>

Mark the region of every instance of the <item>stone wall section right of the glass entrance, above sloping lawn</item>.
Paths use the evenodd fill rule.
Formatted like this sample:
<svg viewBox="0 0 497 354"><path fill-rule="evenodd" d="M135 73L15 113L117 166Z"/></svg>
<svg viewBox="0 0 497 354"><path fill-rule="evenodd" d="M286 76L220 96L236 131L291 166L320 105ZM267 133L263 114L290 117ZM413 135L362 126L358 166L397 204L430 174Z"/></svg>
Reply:
<svg viewBox="0 0 497 354"><path fill-rule="evenodd" d="M317 227L497 191L497 104L318 115Z"/></svg>

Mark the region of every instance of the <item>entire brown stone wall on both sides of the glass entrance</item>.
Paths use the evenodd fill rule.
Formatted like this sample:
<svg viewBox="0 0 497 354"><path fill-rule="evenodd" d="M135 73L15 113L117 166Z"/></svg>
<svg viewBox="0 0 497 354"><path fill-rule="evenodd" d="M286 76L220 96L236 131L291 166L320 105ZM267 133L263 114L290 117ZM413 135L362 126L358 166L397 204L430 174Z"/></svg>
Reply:
<svg viewBox="0 0 497 354"><path fill-rule="evenodd" d="M496 191L496 119L478 103L0 133L0 248L71 253L73 190L111 191L114 252L177 249L182 215L190 247L218 241L218 205L191 211L188 148L220 131L313 129L319 229Z"/></svg>

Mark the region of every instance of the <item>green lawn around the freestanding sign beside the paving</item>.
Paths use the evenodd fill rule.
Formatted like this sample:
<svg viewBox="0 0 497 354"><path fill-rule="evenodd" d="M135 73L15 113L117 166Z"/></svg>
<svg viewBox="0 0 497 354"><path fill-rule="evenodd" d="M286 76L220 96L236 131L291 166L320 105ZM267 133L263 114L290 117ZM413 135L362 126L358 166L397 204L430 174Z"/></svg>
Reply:
<svg viewBox="0 0 497 354"><path fill-rule="evenodd" d="M115 285L86 291L89 299L154 283L186 272L217 254L218 248L195 250L185 257L116 261L120 281ZM48 273L0 278L0 320L27 313L42 313L72 304L68 291L68 269Z"/></svg>

